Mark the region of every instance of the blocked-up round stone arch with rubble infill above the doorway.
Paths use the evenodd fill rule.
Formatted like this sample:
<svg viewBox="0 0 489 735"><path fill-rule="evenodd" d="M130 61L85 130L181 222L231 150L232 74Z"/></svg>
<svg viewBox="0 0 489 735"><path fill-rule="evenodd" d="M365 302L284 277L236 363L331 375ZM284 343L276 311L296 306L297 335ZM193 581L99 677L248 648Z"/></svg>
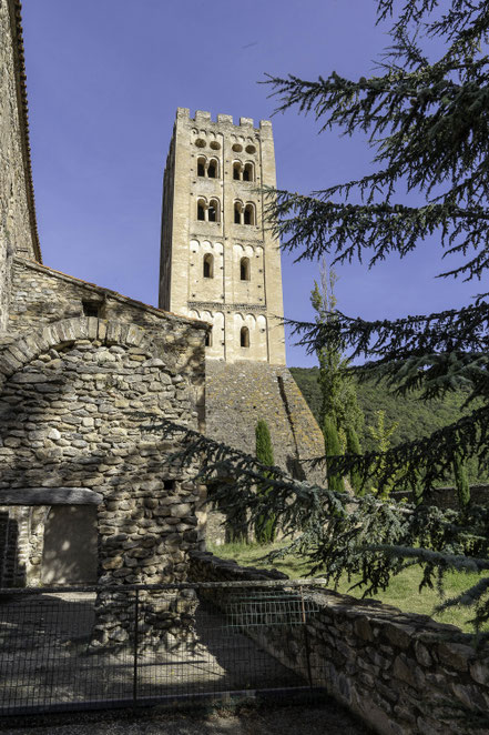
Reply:
<svg viewBox="0 0 489 735"><path fill-rule="evenodd" d="M53 350L55 353L50 354ZM144 517L146 533L156 540L166 510L169 517L174 520L177 517L190 517L195 525L197 493L192 489L191 473L181 473L170 461L171 444L176 449L181 439L165 441L163 435L151 434L145 426L147 419L139 415L144 410L193 424L192 409L182 406L195 403L190 395L194 387L189 384L184 395L177 395L182 386L180 358L171 362L159 354L164 358L159 342L153 342L145 329L79 316L32 331L6 348L0 356L1 411L10 412L19 427L12 433L8 421L2 422L2 434L12 439L6 444L12 461L4 464L2 486L12 493L19 489L31 493L41 490L42 504L48 506L71 506L71 501L59 500L67 489L94 489L100 493L101 582L108 582L112 575L121 581L149 583L176 581L184 575L185 564L170 546L162 544L160 548L155 542L147 552L147 557L154 556L154 563L149 564L146 557L140 565L135 557L128 561L129 551L114 545L112 538L116 526L136 540L137 521L133 518ZM40 356L42 361L38 360ZM102 362L100 356L111 361ZM99 386L101 376L120 379L121 383L113 381L109 386L104 382ZM6 400L9 397L13 402ZM169 490L174 499L172 506L165 504ZM52 502L47 502L45 493L51 493ZM18 495L13 504L23 509L28 495ZM32 506L28 502L26 510ZM115 520L113 525L111 518ZM152 530L147 531L150 525ZM63 527L62 518L57 527ZM32 538L27 531L22 541L22 548L31 550L27 557L42 556L42 550L32 551ZM120 574L121 568L126 576ZM33 581L34 576L29 576L28 582Z"/></svg>

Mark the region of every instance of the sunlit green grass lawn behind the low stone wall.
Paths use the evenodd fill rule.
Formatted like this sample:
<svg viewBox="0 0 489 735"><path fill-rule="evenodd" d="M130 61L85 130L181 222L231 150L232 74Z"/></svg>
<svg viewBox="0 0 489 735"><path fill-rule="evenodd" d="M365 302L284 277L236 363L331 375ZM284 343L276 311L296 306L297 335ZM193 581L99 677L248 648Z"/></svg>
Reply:
<svg viewBox="0 0 489 735"><path fill-rule="evenodd" d="M308 576L307 566L298 556L288 555L275 561L273 564L265 561L264 556L273 548L278 548L278 545L225 544L223 546L214 546L208 544L208 551L213 554L221 558L232 558L242 566L276 568L289 577ZM349 592L349 587L358 578L353 578L352 582L348 582L345 576L345 578L340 580L337 591L344 594L350 594L354 597L361 597L361 588L359 587ZM480 575L476 573L450 572L446 575L445 594L447 597L455 597L462 590L467 590L469 586L476 584L479 578ZM473 616L472 611L466 607L452 607L444 613L435 614L434 608L440 602L438 592L436 590L427 590L426 587L422 592L419 592L421 570L418 566L412 566L401 572L398 576L393 577L385 592L369 596L389 605L395 605L403 612L430 615L440 623L450 623L451 625L457 625L466 633L471 633L473 628L469 625L468 621Z"/></svg>

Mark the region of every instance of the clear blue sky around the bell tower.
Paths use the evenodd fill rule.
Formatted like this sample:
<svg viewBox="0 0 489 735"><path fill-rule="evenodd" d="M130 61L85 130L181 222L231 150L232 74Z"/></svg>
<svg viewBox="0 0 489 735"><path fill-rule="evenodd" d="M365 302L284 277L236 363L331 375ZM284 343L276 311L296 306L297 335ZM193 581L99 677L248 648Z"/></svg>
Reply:
<svg viewBox="0 0 489 735"><path fill-rule="evenodd" d="M23 0L33 180L47 265L157 304L162 175L175 110L269 119L265 72L368 74L388 44L373 0ZM273 118L278 185L309 192L357 178L363 137ZM373 271L337 269L338 308L364 319L460 306L482 284L435 279L437 239ZM284 306L313 319L316 263L283 255ZM287 364L314 358L287 342Z"/></svg>

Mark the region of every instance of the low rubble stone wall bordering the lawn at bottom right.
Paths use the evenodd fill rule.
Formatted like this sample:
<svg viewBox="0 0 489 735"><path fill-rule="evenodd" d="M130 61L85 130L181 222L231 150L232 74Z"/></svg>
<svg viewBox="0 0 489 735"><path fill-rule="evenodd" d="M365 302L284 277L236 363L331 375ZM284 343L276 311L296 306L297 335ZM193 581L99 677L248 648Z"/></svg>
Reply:
<svg viewBox="0 0 489 735"><path fill-rule="evenodd" d="M243 568L206 552L191 553L203 582L286 578ZM214 594L216 594L214 592ZM330 590L308 593L309 662L302 626L262 627L261 644L383 735L468 735L489 732L489 647L427 615L401 613ZM218 602L218 601L217 601Z"/></svg>

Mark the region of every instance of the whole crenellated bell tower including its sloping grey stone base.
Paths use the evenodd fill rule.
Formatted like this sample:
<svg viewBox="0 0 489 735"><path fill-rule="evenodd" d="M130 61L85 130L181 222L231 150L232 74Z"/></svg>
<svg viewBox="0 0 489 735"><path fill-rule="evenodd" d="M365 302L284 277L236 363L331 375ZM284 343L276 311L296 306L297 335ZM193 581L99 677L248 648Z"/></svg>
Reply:
<svg viewBox="0 0 489 735"><path fill-rule="evenodd" d="M179 108L163 183L160 306L212 324L205 433L254 454L269 426L275 462L315 480L305 462L323 434L285 366L278 241L264 222L275 187L272 123Z"/></svg>

